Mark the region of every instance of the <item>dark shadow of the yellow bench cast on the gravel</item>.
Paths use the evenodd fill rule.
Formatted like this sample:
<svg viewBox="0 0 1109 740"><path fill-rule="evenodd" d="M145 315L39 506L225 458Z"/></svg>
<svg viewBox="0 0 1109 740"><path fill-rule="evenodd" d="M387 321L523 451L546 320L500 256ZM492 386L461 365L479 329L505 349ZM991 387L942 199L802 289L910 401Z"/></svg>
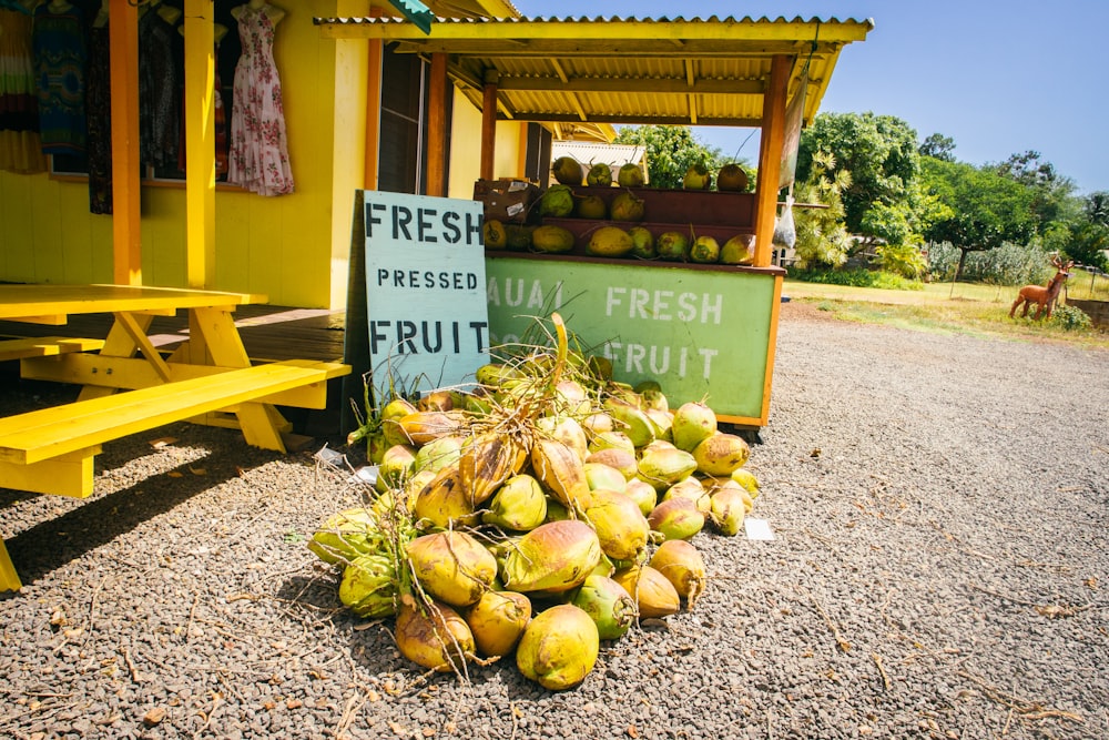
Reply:
<svg viewBox="0 0 1109 740"><path fill-rule="evenodd" d="M204 449L203 445L193 445ZM192 496L222 485L247 465L262 464L243 457L234 462L226 454L207 450L204 476L170 478L157 475L129 488L81 503L4 540L8 554L23 585L78 559L116 537L131 531L151 517L164 514ZM105 456L106 457L106 456ZM125 464L120 459L119 464ZM96 460L98 469L100 459ZM37 494L0 489L0 511Z"/></svg>

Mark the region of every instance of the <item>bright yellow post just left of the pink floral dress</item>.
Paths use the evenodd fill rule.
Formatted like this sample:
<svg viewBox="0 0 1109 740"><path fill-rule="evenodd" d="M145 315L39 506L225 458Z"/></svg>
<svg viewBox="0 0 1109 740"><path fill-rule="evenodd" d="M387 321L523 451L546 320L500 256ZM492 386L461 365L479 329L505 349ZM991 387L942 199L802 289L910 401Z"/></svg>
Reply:
<svg viewBox="0 0 1109 740"><path fill-rule="evenodd" d="M185 274L194 288L215 270L214 18L214 0L185 0Z"/></svg>

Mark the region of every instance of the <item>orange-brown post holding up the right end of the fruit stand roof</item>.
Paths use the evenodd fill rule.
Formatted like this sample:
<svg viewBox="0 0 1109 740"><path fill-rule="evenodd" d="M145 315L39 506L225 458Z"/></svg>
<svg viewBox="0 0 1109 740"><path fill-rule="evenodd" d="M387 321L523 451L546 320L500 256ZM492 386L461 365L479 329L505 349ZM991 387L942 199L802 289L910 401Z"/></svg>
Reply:
<svg viewBox="0 0 1109 740"><path fill-rule="evenodd" d="M755 187L755 267L771 264L774 219L777 215L777 181L785 142L785 105L793 59L777 54L771 62L770 81L763 95L763 125L759 146L759 181Z"/></svg>

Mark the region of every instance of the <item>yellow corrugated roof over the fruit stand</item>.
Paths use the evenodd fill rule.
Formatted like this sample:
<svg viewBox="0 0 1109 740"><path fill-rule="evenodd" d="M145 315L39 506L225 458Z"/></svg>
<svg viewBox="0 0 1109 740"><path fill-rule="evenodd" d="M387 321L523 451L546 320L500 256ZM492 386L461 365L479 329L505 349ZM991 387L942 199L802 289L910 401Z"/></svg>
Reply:
<svg viewBox="0 0 1109 740"><path fill-rule="evenodd" d="M871 20L801 18L439 18L424 34L398 18L317 18L330 38L374 38L400 53L445 53L478 109L496 83L498 118L541 122L759 125L775 55L808 73L820 108L844 45Z"/></svg>

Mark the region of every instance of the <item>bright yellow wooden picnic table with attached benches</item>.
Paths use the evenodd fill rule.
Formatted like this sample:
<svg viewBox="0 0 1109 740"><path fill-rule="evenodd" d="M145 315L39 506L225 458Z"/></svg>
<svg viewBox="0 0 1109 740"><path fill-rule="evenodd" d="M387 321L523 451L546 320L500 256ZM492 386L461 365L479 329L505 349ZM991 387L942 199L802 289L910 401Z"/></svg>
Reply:
<svg viewBox="0 0 1109 740"><path fill-rule="evenodd" d="M24 378L82 386L61 406L0 418L0 488L85 497L104 442L187 419L237 426L256 447L285 452L291 425L275 406L323 408L326 381L348 365L313 361L252 364L236 306L263 295L131 285L0 285L0 320L62 326L73 314L110 313L102 342L12 341ZM147 330L154 316L189 312L189 335L167 357ZM99 348L99 353L90 352ZM123 392L123 393L121 393ZM0 590L19 579L0 540Z"/></svg>

